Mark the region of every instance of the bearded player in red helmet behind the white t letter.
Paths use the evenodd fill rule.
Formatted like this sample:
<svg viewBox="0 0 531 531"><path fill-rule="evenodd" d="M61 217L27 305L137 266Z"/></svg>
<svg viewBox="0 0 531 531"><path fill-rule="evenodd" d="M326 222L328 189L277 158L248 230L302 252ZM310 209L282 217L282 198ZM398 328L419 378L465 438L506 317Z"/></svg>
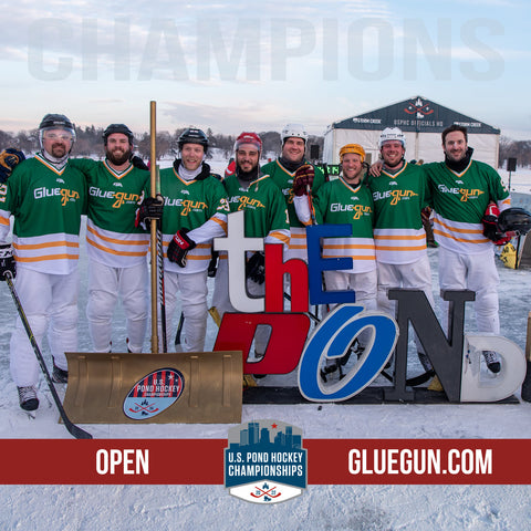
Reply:
<svg viewBox="0 0 531 531"><path fill-rule="evenodd" d="M290 225L282 192L272 179L260 171L262 140L256 133L241 133L236 139L236 171L226 177L230 211L243 210L246 237L263 238L264 243L288 243ZM262 252L249 252L247 262L247 289L251 295L264 294L264 256ZM229 272L227 253L220 253L216 274L216 288L212 304L219 319L225 312L233 312L229 301ZM267 346L268 330L257 331L256 358L263 356Z"/></svg>

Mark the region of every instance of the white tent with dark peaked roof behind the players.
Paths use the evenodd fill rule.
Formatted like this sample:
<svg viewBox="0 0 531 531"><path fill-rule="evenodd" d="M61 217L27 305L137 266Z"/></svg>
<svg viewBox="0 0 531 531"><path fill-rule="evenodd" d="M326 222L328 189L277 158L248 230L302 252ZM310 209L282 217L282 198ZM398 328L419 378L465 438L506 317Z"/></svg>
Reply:
<svg viewBox="0 0 531 531"><path fill-rule="evenodd" d="M415 96L387 107L371 111L329 125L324 135L323 160L339 164L340 148L345 144L361 144L367 160L378 158L378 138L385 127L399 127L406 135L406 159L425 163L444 159L442 131L451 124L468 128L468 145L473 158L498 167L500 129L457 113L423 96Z"/></svg>

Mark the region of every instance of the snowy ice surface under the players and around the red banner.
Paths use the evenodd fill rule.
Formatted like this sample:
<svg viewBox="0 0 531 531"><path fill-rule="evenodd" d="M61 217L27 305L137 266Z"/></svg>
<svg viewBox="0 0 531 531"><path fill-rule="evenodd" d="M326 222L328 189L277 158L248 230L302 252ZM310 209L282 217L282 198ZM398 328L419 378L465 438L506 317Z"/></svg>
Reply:
<svg viewBox="0 0 531 531"><path fill-rule="evenodd" d="M212 164L215 170L221 163ZM503 173L502 173L503 175ZM514 191L531 190L531 173L512 176ZM518 178L517 178L518 177ZM517 183L517 184L514 184ZM437 288L437 250L429 250ZM500 273L502 335L523 350L530 310L531 274L510 270L497 260ZM86 279L86 259L81 259ZM211 285L210 285L211 288ZM211 291L211 290L210 290ZM80 350L91 351L84 306L80 296ZM29 418L18 406L9 374L9 339L15 309L7 287L0 284L0 437L71 438L62 425L46 385L41 381L41 406ZM467 329L473 311L467 304ZM117 350L125 346L122 311L115 316ZM216 327L208 325L207 350ZM146 351L148 345L146 343ZM48 345L42 345L49 361ZM418 373L416 356L409 368ZM292 385L293 375L264 378L263 385ZM376 382L381 384L379 379ZM528 438L531 404L518 405L356 405L243 406L242 421L274 418L303 429L305 438ZM230 425L91 425L95 438L226 438ZM39 445L35 444L38 452ZM9 459L9 456L4 457ZM175 456L175 459L186 456ZM516 456L528 459L528 456ZM42 459L46 459L43 455ZM58 469L61 462L56 464ZM6 530L512 530L531 521L529 486L315 486L299 498L275 506L254 506L230 497L222 486L0 486L0 528ZM211 528L210 528L211 525Z"/></svg>

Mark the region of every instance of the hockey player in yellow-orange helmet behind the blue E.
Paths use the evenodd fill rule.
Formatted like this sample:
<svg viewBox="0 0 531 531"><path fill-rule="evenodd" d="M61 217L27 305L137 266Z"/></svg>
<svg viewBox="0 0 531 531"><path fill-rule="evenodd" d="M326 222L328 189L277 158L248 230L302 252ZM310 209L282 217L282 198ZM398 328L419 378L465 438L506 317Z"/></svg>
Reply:
<svg viewBox="0 0 531 531"><path fill-rule="evenodd" d="M371 190L363 181L365 150L358 144L340 149L341 175L325 183L315 194L313 207L317 223L350 223L352 236L326 238L323 258L350 257L353 267L343 271L325 271L329 291L354 290L356 302L376 309L376 257L373 239L374 205ZM295 180L294 206L300 220L311 223L310 204L304 181ZM334 305L332 305L334 308Z"/></svg>

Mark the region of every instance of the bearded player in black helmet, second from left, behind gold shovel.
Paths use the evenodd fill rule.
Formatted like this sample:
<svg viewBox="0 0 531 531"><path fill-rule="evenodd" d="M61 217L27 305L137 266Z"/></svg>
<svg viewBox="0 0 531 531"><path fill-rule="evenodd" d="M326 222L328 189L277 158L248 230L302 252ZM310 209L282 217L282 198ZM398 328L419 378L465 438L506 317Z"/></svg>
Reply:
<svg viewBox="0 0 531 531"><path fill-rule="evenodd" d="M112 317L119 298L127 348L138 353L147 330L149 238L133 220L149 174L132 164L134 136L126 125L111 124L103 133L103 144L105 160L71 160L88 185L88 331L95 352L111 352ZM152 201L145 208L162 212L163 207Z"/></svg>

